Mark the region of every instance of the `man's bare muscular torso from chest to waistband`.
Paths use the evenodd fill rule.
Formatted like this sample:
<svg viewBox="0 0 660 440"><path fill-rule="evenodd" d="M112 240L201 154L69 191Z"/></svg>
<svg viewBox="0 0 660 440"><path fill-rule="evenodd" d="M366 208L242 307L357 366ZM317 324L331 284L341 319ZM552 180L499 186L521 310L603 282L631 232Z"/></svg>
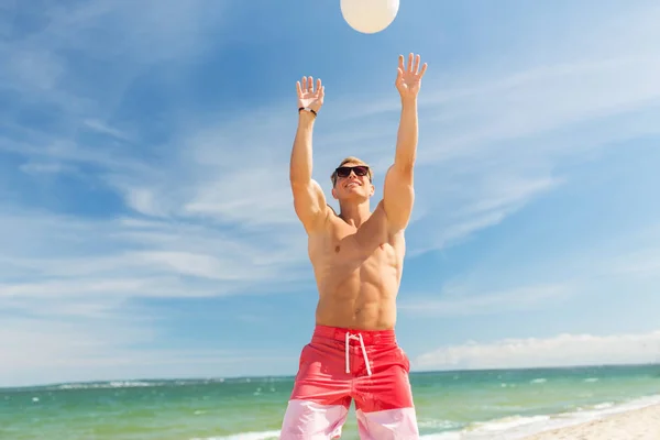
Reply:
<svg viewBox="0 0 660 440"><path fill-rule="evenodd" d="M316 323L356 330L393 329L403 238L378 237L383 234L373 226L364 231L346 229L332 228L328 235L310 240L319 289Z"/></svg>

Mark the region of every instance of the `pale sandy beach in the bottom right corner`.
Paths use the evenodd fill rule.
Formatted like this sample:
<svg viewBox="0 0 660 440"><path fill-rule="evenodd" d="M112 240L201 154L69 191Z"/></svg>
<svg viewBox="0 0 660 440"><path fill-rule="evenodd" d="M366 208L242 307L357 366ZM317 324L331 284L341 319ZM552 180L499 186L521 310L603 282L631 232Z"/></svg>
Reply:
<svg viewBox="0 0 660 440"><path fill-rule="evenodd" d="M597 420L541 432L525 440L659 440L660 405L604 416Z"/></svg>

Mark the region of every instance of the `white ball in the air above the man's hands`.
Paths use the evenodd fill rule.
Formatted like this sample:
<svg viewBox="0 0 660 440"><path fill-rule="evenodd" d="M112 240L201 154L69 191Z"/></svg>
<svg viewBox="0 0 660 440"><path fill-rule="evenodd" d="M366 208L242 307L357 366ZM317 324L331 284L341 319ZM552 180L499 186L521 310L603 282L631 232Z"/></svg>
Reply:
<svg viewBox="0 0 660 440"><path fill-rule="evenodd" d="M351 28L365 34L383 31L398 13L399 0L341 0L341 14Z"/></svg>

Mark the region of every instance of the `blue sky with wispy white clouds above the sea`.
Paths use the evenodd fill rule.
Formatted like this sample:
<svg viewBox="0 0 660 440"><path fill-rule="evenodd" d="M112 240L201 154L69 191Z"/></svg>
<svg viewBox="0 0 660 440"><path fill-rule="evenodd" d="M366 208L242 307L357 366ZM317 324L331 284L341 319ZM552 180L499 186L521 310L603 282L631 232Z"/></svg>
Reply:
<svg viewBox="0 0 660 440"><path fill-rule="evenodd" d="M413 371L660 361L660 6L338 1L0 6L0 386L293 375L317 292L293 209L296 81L314 177L394 160L419 95L398 295Z"/></svg>

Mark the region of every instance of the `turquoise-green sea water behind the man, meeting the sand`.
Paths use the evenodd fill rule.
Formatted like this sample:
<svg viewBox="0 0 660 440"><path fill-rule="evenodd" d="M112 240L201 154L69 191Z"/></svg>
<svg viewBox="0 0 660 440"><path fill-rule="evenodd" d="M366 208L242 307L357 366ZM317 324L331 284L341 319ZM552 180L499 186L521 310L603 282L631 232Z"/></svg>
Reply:
<svg viewBox="0 0 660 440"><path fill-rule="evenodd" d="M429 439L515 438L660 402L660 365L410 375ZM293 377L130 381L0 389L0 439L276 439ZM358 439L353 409L342 439Z"/></svg>

